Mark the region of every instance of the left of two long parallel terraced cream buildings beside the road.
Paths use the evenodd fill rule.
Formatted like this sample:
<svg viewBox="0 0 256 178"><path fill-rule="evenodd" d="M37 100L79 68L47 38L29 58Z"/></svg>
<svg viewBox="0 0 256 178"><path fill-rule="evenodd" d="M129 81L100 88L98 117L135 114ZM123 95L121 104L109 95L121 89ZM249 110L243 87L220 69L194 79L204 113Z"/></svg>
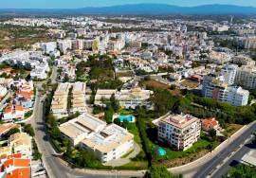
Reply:
<svg viewBox="0 0 256 178"><path fill-rule="evenodd" d="M51 112L53 116L57 118L67 116L67 97L70 87L71 84L67 82L58 85L51 102Z"/></svg>

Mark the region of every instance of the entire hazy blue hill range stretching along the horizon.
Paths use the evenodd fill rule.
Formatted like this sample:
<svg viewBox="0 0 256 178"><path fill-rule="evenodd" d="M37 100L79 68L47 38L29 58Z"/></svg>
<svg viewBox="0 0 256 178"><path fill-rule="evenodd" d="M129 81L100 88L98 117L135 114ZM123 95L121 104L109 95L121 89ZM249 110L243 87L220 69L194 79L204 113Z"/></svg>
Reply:
<svg viewBox="0 0 256 178"><path fill-rule="evenodd" d="M256 14L254 7L233 5L205 5L197 7L178 7L165 4L136 4L102 8L82 9L0 9L5 14L101 14L101 15L161 15L161 14Z"/></svg>

